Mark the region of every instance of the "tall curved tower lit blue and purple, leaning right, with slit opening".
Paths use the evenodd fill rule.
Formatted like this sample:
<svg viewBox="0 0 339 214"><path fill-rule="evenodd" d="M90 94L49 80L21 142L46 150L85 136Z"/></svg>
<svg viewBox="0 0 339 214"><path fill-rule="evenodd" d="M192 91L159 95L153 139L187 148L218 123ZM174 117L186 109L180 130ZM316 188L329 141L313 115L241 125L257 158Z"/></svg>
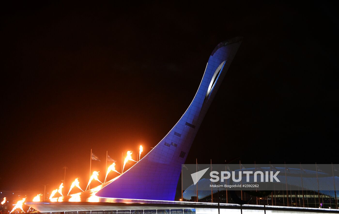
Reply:
<svg viewBox="0 0 339 214"><path fill-rule="evenodd" d="M181 164L238 51L240 37L220 42L208 59L190 106L171 131L133 167L96 194L109 198L174 200Z"/></svg>

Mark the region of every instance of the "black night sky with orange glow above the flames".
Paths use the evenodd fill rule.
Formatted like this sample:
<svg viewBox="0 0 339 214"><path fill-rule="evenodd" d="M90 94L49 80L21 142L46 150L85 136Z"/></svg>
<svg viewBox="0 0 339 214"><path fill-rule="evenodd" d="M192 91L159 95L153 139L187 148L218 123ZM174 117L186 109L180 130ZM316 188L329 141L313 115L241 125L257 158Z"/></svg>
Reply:
<svg viewBox="0 0 339 214"><path fill-rule="evenodd" d="M120 171L122 152L148 152L175 125L214 47L235 36L186 162L338 163L337 11L324 1L3 5L0 189L55 189L64 166L66 188L76 177L85 186L91 149L93 170L104 173L108 150Z"/></svg>

